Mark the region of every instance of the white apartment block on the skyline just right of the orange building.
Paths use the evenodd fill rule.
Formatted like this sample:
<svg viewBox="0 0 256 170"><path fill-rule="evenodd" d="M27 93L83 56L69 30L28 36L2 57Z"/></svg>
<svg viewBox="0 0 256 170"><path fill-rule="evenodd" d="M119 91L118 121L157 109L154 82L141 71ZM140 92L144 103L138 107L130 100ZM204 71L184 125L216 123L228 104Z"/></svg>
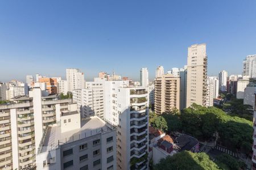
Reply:
<svg viewBox="0 0 256 170"><path fill-rule="evenodd" d="M84 73L79 69L66 69L68 91L84 88Z"/></svg>

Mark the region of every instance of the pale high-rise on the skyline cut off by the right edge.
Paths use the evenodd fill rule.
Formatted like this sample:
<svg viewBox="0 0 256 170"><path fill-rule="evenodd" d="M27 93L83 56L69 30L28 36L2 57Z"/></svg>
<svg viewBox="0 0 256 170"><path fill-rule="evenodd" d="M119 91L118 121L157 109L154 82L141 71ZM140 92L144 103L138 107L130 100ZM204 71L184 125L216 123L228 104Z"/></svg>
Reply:
<svg viewBox="0 0 256 170"><path fill-rule="evenodd" d="M256 78L256 54L249 55L243 60L243 76Z"/></svg>

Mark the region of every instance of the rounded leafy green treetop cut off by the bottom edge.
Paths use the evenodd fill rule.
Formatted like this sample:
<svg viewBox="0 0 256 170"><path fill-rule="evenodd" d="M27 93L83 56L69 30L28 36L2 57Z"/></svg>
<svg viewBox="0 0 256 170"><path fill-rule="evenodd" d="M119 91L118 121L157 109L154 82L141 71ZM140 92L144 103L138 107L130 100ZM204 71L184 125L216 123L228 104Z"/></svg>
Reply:
<svg viewBox="0 0 256 170"><path fill-rule="evenodd" d="M190 151L182 151L174 156L167 156L166 159L161 159L155 165L156 170L172 170L172 169L220 169L218 165L209 159L209 156L204 152L192 153Z"/></svg>

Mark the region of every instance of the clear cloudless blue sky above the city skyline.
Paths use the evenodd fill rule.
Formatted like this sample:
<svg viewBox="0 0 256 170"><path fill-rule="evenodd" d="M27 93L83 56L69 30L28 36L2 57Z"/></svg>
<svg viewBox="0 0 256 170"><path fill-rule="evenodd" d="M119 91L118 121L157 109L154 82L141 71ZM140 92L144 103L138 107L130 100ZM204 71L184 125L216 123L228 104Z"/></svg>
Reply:
<svg viewBox="0 0 256 170"><path fill-rule="evenodd" d="M150 78L187 63L187 47L207 44L208 75L241 74L256 54L255 0L0 1L0 81L76 67Z"/></svg>

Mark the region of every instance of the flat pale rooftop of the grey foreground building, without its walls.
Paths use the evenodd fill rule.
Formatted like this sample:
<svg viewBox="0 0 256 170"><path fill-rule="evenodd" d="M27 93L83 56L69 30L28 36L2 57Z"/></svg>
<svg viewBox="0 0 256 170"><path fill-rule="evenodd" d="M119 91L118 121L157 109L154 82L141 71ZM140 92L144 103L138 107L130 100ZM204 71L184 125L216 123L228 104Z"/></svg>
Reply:
<svg viewBox="0 0 256 170"><path fill-rule="evenodd" d="M53 150L59 145L74 142L92 135L106 133L112 130L113 129L107 126L104 121L97 117L86 118L86 120L81 121L80 129L66 131L65 133L61 133L61 127L54 124L53 126L49 126L47 129L41 152Z"/></svg>

